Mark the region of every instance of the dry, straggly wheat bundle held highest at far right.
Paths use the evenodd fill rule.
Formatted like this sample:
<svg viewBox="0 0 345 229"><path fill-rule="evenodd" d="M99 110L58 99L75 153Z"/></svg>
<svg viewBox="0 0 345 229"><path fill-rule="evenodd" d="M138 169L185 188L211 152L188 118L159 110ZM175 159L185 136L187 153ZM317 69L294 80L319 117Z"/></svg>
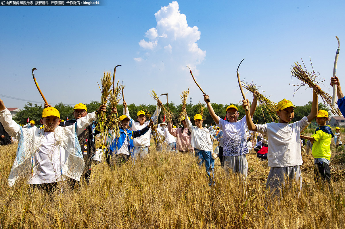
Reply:
<svg viewBox="0 0 345 229"><path fill-rule="evenodd" d="M312 89L314 89L316 84L319 84L319 83L325 81L325 79L323 79L322 81L317 81L317 77L319 75L318 76L315 75L316 72L313 69L312 61L310 61L310 64L311 64L312 69L313 69L312 72L307 71L307 68L304 65L303 60L302 60L302 63L304 66L304 70L298 62L295 63L295 66L292 66L292 69L291 69L291 75L296 77L300 81L300 84L298 84L298 85L293 84L293 86L298 86L297 90L301 86L306 86L306 85L308 87L311 87ZM296 93L296 91L295 91L295 93ZM317 90L316 92L317 92L317 94L319 94L321 96L324 104L326 104L328 106L329 111L331 111L333 114L338 114L339 116L342 116L342 113L340 112L340 110L338 108L331 106L331 104L332 104L332 96L331 95L327 94L326 92L324 92L322 90Z"/></svg>

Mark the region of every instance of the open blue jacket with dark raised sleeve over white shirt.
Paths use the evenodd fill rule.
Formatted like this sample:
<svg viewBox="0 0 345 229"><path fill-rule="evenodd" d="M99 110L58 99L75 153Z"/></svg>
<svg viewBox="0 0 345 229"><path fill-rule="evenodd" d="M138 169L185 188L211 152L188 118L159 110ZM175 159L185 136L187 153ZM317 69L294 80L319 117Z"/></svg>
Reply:
<svg viewBox="0 0 345 229"><path fill-rule="evenodd" d="M120 128L120 137L116 137L114 142L112 142L109 146L110 155L115 155L119 152L119 150L124 146L124 142L127 141L128 143L128 154L133 156L133 148L134 143L133 139L136 137L140 137L141 135L146 134L146 132L149 131L149 127L145 126L143 129L139 129L137 131L130 131L129 129L126 129L126 132L124 129ZM127 134L126 134L127 133ZM122 151L123 149L121 149Z"/></svg>

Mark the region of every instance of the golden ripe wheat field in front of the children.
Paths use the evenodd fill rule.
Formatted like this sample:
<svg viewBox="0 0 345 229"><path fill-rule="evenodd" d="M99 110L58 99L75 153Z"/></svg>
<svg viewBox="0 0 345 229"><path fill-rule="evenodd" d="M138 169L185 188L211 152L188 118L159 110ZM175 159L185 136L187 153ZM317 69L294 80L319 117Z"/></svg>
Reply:
<svg viewBox="0 0 345 229"><path fill-rule="evenodd" d="M153 144L144 160L114 169L93 165L88 186L70 190L62 182L50 195L20 182L9 188L16 147L0 147L1 229L345 227L343 165L331 170L337 177L330 193L315 185L311 155L303 155L302 191L286 188L278 198L266 191L269 167L254 151L247 155L246 189L241 177L225 173L218 158L211 188L205 166L194 157L157 152Z"/></svg>

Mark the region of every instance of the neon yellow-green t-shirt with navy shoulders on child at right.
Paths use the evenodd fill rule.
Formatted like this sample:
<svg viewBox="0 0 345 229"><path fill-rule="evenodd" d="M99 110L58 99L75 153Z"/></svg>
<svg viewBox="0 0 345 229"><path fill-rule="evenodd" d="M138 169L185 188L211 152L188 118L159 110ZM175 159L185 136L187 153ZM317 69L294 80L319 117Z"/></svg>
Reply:
<svg viewBox="0 0 345 229"><path fill-rule="evenodd" d="M331 159L331 138L334 137L331 127L328 125L317 127L312 137L315 139L313 157Z"/></svg>

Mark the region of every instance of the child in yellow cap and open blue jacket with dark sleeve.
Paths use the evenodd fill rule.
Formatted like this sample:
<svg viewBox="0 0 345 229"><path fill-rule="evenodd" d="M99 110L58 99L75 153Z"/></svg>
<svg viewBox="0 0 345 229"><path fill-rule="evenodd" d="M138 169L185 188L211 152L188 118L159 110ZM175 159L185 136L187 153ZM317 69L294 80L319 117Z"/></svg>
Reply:
<svg viewBox="0 0 345 229"><path fill-rule="evenodd" d="M112 108L112 112L117 114L116 108ZM137 131L130 131L128 129L130 118L126 115L121 115L119 117L119 128L120 128L120 137L116 137L114 142L112 142L109 146L110 156L116 158L116 162L119 164L126 163L129 159L129 156L133 156L134 154L134 142L133 138L140 137L146 134L152 122L149 122L147 126ZM108 163L110 166L113 166L112 161L109 160Z"/></svg>

